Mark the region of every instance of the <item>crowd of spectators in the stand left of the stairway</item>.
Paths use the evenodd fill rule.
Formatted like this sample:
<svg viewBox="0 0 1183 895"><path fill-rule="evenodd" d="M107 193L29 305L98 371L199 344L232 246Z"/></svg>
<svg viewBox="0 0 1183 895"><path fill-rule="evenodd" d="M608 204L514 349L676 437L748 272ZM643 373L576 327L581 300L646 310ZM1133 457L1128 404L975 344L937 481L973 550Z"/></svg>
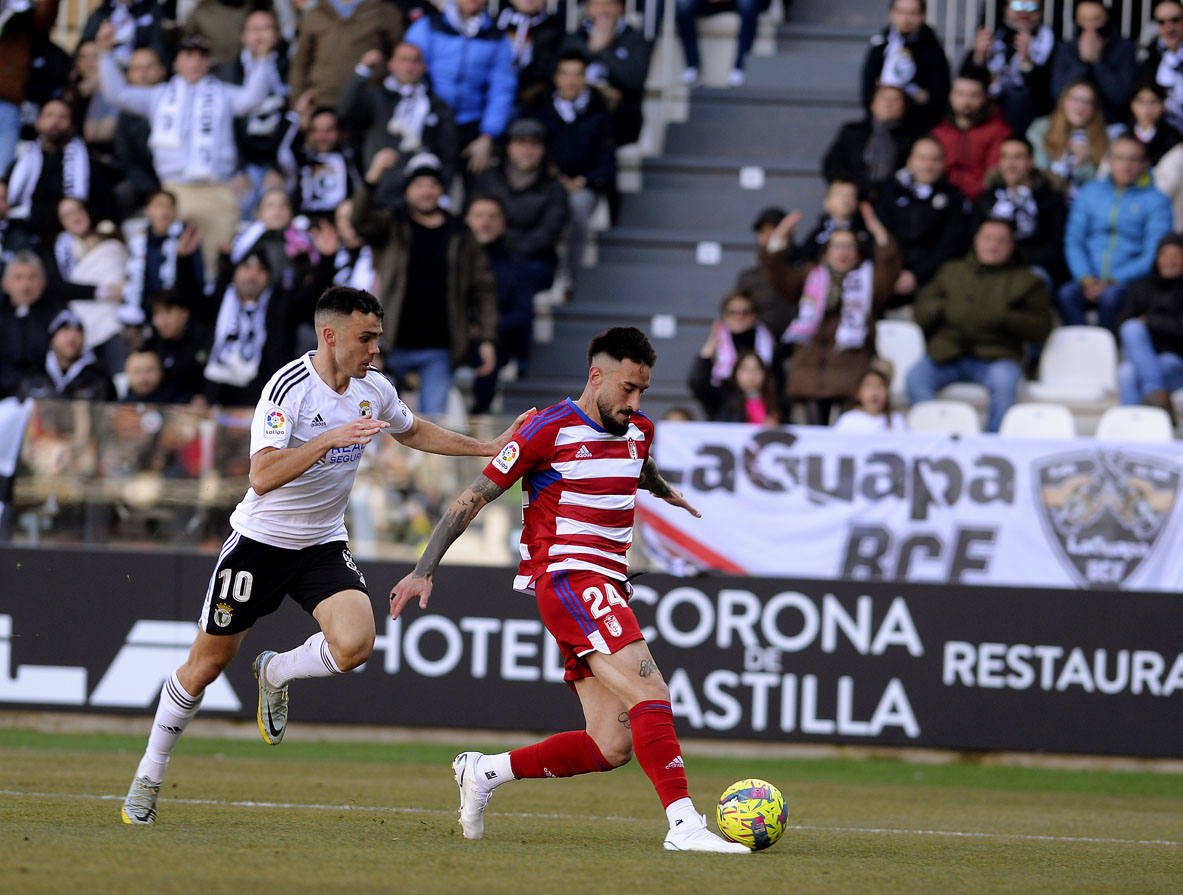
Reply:
<svg viewBox="0 0 1183 895"><path fill-rule="evenodd" d="M622 0L59 0L0 31L0 397L251 406L332 283L420 411L489 410L615 205L651 45Z"/></svg>

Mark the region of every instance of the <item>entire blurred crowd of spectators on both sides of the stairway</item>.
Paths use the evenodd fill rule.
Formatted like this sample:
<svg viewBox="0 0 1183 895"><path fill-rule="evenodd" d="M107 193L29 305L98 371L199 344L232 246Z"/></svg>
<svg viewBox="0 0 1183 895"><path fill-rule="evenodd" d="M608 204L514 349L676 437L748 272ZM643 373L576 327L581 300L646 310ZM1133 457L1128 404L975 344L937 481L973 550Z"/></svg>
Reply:
<svg viewBox="0 0 1183 895"><path fill-rule="evenodd" d="M232 465L202 421L233 429L315 346L334 283L381 299L383 368L420 413L499 409L539 297L571 300L620 207L666 14L651 6L103 0L66 46L58 0L2 0L0 398L112 402L88 426L116 439L80 449L72 415L38 411L37 432L75 434L37 462L134 453L122 402L161 408L137 468ZM670 12L687 87L717 8ZM739 87L768 6L725 8ZM758 264L720 297L670 419L873 432L907 424L893 394L974 383L996 432L1056 330L1087 325L1120 349L1120 401L1174 426L1183 2L1148 5L1136 43L1097 0L1067 28L1002 0L952 59L923 0L885 12L849 72L865 114L819 158L822 207L751 209ZM911 354L888 330L914 333Z"/></svg>

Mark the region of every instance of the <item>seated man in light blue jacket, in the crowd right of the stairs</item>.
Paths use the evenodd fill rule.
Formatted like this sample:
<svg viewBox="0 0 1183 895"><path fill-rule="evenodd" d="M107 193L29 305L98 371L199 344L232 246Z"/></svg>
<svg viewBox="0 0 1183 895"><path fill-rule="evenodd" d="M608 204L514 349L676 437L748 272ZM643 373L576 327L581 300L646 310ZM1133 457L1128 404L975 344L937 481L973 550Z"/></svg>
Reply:
<svg viewBox="0 0 1183 895"><path fill-rule="evenodd" d="M1077 194L1064 233L1072 281L1056 293L1066 324L1095 310L1113 329L1131 280L1150 273L1158 242L1171 231L1171 203L1146 174L1146 150L1131 136L1110 144L1110 176Z"/></svg>

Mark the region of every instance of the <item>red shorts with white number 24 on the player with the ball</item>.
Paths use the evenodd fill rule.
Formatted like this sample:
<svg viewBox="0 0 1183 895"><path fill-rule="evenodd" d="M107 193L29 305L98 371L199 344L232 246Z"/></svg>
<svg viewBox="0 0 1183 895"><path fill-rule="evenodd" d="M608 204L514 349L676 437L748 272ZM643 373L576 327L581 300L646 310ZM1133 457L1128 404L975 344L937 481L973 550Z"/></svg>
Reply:
<svg viewBox="0 0 1183 895"><path fill-rule="evenodd" d="M633 589L601 572L545 572L534 583L538 615L558 642L564 681L592 677L589 653L616 653L644 640L636 616L628 608Z"/></svg>

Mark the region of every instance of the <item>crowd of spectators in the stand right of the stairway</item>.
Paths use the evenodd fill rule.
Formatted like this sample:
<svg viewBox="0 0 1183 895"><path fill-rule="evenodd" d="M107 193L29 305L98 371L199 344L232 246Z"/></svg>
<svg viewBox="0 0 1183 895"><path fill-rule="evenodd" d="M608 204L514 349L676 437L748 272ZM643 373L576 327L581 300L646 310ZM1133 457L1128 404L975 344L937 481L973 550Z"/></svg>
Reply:
<svg viewBox="0 0 1183 895"><path fill-rule="evenodd" d="M988 391L996 432L1060 324L1110 329L1120 400L1172 414L1183 385L1183 2L1152 5L1136 46L1099 0L1056 38L1043 0L1003 0L950 60L924 0L892 0L861 71L865 115L821 160L822 214L754 223L759 267L723 304L689 384L709 419L826 424L875 398L875 322L914 320L911 402L955 382ZM746 304L744 303L746 300ZM761 409L737 367L777 385ZM868 378L870 377L870 378ZM867 393L866 395L864 393ZM891 424L877 398L877 424ZM852 419L865 426L866 411Z"/></svg>

